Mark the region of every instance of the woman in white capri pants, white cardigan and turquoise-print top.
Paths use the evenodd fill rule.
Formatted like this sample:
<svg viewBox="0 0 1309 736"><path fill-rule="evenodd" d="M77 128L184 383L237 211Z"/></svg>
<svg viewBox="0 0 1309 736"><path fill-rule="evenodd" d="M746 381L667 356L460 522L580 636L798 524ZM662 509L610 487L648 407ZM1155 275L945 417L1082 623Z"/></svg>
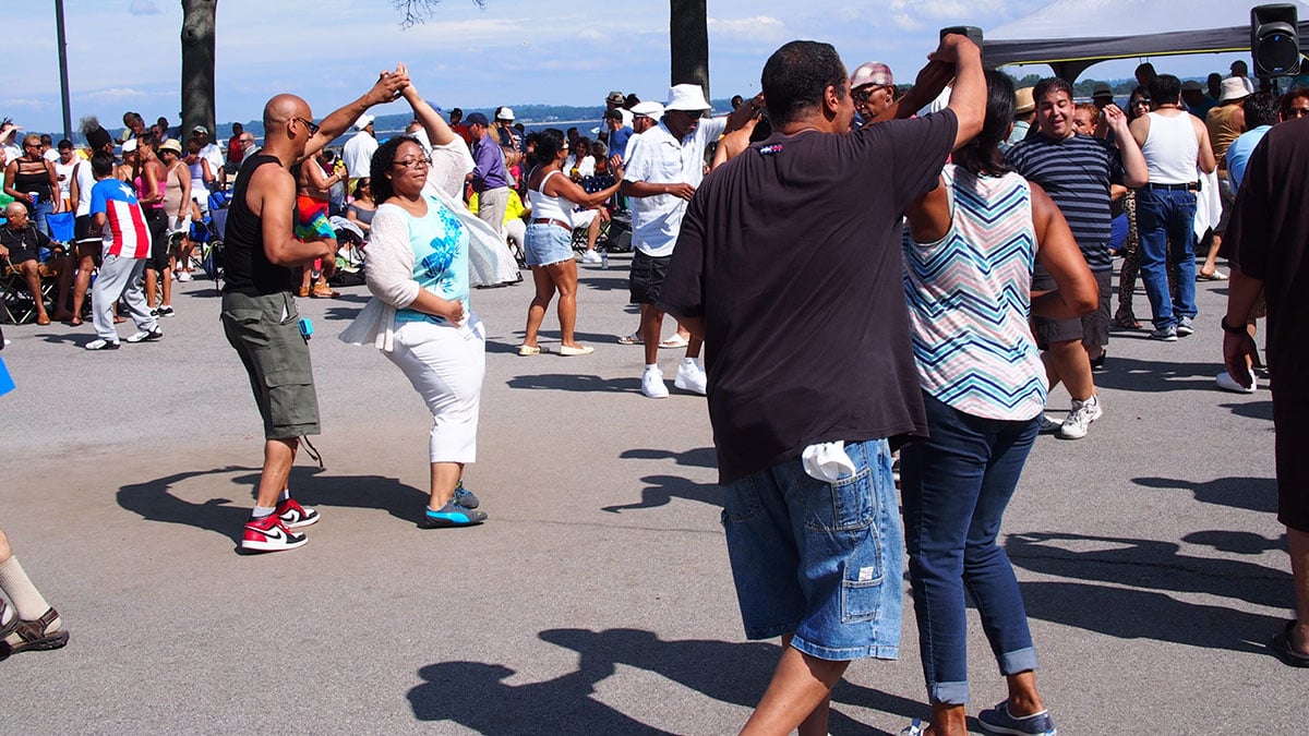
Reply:
<svg viewBox="0 0 1309 736"><path fill-rule="evenodd" d="M476 496L462 488L463 466L476 460L486 334L469 309L471 215L450 199L452 185L458 191L463 181L467 148L414 86L403 96L427 130L432 157L408 136L373 155L369 181L381 204L365 275L376 299L342 339L373 335L432 411L424 525L469 526L486 520L474 511Z"/></svg>

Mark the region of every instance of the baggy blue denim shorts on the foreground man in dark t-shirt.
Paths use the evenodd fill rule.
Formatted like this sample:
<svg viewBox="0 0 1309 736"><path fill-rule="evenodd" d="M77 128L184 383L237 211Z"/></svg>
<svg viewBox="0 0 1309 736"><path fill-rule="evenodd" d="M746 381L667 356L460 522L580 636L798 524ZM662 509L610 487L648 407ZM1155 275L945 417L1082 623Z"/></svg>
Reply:
<svg viewBox="0 0 1309 736"><path fill-rule="evenodd" d="M724 487L723 526L746 636L795 634L825 660L895 659L905 542L886 440L847 443L856 473L810 478L800 458Z"/></svg>

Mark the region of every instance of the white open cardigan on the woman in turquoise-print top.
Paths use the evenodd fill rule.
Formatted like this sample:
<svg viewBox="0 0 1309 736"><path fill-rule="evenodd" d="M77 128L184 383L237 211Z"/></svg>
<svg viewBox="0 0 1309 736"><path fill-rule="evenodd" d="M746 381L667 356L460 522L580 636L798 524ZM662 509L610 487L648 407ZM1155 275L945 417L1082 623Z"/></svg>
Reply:
<svg viewBox="0 0 1309 736"><path fill-rule="evenodd" d="M499 283L504 241L491 225L470 212L459 196L471 158L467 145L458 138L446 145L433 147L432 166L423 194L445 204L469 230L470 283ZM397 204L377 207L364 263L364 279L373 299L340 333L338 339L342 342L373 343L385 352L394 350L395 310L412 304L423 288L414 280L414 249L408 242L408 212Z"/></svg>

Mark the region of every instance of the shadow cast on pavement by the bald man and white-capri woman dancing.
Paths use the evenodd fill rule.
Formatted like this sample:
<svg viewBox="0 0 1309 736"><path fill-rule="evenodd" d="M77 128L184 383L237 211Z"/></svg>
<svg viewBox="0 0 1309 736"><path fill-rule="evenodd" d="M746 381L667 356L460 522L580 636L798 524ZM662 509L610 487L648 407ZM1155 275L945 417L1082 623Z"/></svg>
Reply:
<svg viewBox="0 0 1309 736"><path fill-rule="evenodd" d="M211 498L203 503L192 503L173 495L174 486L204 475L243 473L230 478L232 498ZM419 524L428 495L406 486L395 478L382 475L323 475L319 468L293 468L291 487L296 500L305 506L336 506L356 508L380 508L397 519ZM130 483L118 490L118 506L132 511L147 521L182 524L213 532L240 542L250 506L259 482L258 468L229 465L209 470L187 470L162 478ZM250 500L246 500L250 499Z"/></svg>

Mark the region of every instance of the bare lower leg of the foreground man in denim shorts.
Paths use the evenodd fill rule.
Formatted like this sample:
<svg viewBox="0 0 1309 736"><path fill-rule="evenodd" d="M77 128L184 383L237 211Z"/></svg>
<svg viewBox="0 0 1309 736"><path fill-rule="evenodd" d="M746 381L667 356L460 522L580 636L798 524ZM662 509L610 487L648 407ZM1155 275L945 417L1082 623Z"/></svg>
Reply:
<svg viewBox="0 0 1309 736"><path fill-rule="evenodd" d="M791 636L783 638L781 660L763 699L746 722L742 735L785 735L801 724L801 736L827 733L831 689L850 667L792 648Z"/></svg>

